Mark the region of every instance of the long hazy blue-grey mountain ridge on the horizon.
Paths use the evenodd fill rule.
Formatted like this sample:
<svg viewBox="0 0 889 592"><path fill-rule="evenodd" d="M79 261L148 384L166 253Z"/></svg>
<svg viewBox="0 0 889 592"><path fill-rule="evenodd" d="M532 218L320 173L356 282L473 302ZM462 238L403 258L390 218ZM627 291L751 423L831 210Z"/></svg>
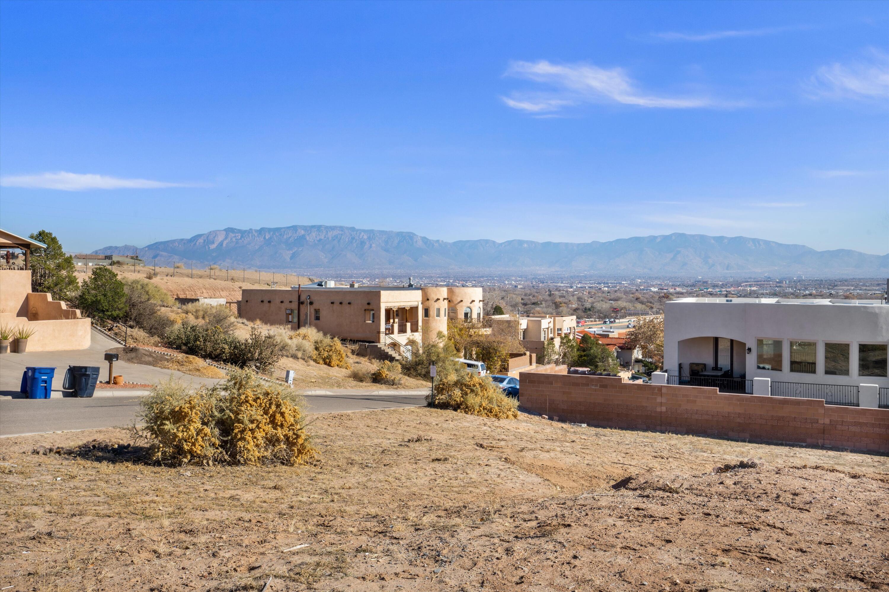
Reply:
<svg viewBox="0 0 889 592"><path fill-rule="evenodd" d="M133 254L133 245L96 254ZM674 233L591 243L511 240L440 241L412 232L345 226L224 228L148 244L141 257L269 270L400 273L489 271L638 276L812 274L886 276L889 254L815 251L746 236Z"/></svg>

